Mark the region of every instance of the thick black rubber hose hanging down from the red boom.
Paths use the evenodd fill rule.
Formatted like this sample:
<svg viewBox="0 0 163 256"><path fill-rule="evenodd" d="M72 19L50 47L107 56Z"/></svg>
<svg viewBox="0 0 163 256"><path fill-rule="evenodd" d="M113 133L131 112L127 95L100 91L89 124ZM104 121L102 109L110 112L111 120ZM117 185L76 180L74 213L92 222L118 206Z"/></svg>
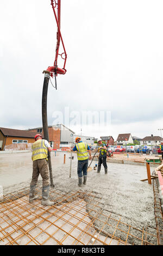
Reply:
<svg viewBox="0 0 163 256"><path fill-rule="evenodd" d="M48 92L48 83L50 78L50 73L48 71L43 71L45 73L43 81L43 90L42 90L42 127L43 127L43 136L49 142L48 134L48 122L47 122L47 92ZM48 151L48 166L51 179L51 187L54 187L53 175L52 175L52 163L51 163L51 153Z"/></svg>

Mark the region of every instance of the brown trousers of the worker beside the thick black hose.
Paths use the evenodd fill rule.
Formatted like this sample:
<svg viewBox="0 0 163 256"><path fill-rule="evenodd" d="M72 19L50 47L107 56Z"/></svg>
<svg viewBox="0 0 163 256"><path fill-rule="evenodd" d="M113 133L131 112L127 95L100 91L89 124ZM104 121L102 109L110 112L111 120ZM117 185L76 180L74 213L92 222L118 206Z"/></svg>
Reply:
<svg viewBox="0 0 163 256"><path fill-rule="evenodd" d="M30 185L36 185L39 178L39 174L42 177L42 187L50 185L48 161L46 159L39 159L33 161L33 174Z"/></svg>

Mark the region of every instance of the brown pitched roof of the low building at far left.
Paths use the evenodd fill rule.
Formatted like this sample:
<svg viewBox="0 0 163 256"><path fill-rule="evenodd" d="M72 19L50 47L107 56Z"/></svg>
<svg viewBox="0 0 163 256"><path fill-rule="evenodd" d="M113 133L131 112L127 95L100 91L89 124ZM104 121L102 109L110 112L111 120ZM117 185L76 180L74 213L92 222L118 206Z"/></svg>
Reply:
<svg viewBox="0 0 163 256"><path fill-rule="evenodd" d="M16 130L16 129L9 129L9 128L3 128L3 127L0 127L0 131L3 133L4 136L12 136L12 137L34 138L36 135L36 132L32 132L32 131Z"/></svg>

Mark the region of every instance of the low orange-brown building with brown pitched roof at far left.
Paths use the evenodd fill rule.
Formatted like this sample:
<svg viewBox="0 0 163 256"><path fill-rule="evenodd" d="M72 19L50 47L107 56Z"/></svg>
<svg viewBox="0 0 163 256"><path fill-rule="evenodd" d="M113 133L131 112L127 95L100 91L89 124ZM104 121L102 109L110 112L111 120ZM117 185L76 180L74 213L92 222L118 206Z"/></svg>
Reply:
<svg viewBox="0 0 163 256"><path fill-rule="evenodd" d="M14 148L14 144L24 143L24 149L26 149L27 143L35 142L35 132L24 131L24 130L16 130L0 127L0 150L4 150L9 148Z"/></svg>

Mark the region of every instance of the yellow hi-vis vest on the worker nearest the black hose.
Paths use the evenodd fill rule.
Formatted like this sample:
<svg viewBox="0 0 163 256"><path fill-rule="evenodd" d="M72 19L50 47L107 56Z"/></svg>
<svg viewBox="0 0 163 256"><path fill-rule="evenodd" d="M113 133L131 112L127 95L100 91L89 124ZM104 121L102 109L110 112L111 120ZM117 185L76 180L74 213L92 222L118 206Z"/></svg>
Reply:
<svg viewBox="0 0 163 256"><path fill-rule="evenodd" d="M32 145L32 160L46 159L48 160L48 149L45 146L45 139L38 139Z"/></svg>

